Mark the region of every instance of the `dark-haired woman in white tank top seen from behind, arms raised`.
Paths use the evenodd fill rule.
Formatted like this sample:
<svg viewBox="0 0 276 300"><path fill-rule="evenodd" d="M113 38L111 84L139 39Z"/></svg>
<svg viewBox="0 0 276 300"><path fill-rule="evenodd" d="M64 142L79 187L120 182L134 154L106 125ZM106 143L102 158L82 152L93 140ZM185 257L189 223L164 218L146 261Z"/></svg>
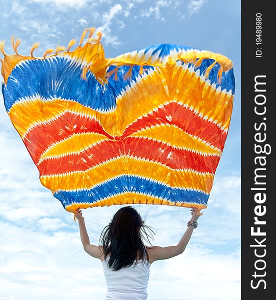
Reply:
<svg viewBox="0 0 276 300"><path fill-rule="evenodd" d="M145 300L150 264L182 253L197 226L200 212L191 209L188 227L176 246L144 246L143 233L148 239L140 214L131 206L120 208L100 234L100 244L92 245L81 210L76 210L80 238L84 250L103 264L107 284L106 300Z"/></svg>

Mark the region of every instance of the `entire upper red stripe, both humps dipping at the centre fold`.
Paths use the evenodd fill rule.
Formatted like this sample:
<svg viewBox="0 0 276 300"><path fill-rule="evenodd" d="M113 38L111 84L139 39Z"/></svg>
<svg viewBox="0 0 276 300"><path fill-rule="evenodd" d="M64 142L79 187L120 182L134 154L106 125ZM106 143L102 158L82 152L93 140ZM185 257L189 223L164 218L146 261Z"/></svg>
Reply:
<svg viewBox="0 0 276 300"><path fill-rule="evenodd" d="M171 116L168 120L166 116ZM152 114L138 119L127 127L121 138L155 124L167 122L175 124L185 132L198 136L210 144L223 149L226 139L226 132L223 132L214 123L203 120L188 108L183 107L175 102L153 111ZM49 121L49 123L42 123L31 128L25 135L23 141L34 161L37 164L40 156L45 149L53 143L69 137L73 133L96 132L104 134L110 139L114 139L106 133L101 127L100 123L88 116L80 116L72 112L65 112L57 119ZM115 139L120 140L119 136Z"/></svg>

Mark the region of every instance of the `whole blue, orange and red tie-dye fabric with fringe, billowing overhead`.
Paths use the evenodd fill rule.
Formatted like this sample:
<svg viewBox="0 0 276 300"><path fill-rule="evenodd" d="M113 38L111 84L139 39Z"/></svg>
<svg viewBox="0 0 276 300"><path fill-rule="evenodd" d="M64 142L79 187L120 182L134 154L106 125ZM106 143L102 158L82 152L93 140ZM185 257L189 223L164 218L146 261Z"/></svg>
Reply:
<svg viewBox="0 0 276 300"><path fill-rule="evenodd" d="M23 56L19 40L12 55L0 43L4 105L41 183L71 212L205 208L231 117L231 60L176 44L105 58L93 31L43 57L38 44Z"/></svg>

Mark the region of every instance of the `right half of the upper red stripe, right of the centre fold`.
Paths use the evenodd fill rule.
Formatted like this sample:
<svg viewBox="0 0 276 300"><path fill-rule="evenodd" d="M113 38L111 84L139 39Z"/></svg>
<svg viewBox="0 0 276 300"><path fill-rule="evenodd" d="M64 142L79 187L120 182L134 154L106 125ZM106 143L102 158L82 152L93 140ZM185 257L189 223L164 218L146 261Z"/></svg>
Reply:
<svg viewBox="0 0 276 300"><path fill-rule="evenodd" d="M171 116L171 120L166 116ZM131 125L129 125L123 133L123 137L128 136L146 126L150 127L162 123L174 124L185 132L197 136L213 146L223 149L226 139L226 132L221 130L216 124L201 118L190 109L175 103L170 102L164 107L160 107L157 111L143 116Z"/></svg>

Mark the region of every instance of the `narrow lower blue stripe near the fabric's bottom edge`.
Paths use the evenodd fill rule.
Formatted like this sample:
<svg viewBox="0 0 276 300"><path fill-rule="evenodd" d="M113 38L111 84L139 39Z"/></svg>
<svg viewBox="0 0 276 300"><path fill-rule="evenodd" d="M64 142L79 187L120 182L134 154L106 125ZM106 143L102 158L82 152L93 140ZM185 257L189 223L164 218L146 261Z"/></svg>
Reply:
<svg viewBox="0 0 276 300"><path fill-rule="evenodd" d="M77 191L56 191L53 195L62 203L63 207L73 202L94 203L105 197L111 197L122 192L142 192L156 196L168 201L196 202L207 204L209 194L201 191L188 190L184 188L169 187L160 182L141 178L135 175L121 175L105 181L90 189Z"/></svg>

